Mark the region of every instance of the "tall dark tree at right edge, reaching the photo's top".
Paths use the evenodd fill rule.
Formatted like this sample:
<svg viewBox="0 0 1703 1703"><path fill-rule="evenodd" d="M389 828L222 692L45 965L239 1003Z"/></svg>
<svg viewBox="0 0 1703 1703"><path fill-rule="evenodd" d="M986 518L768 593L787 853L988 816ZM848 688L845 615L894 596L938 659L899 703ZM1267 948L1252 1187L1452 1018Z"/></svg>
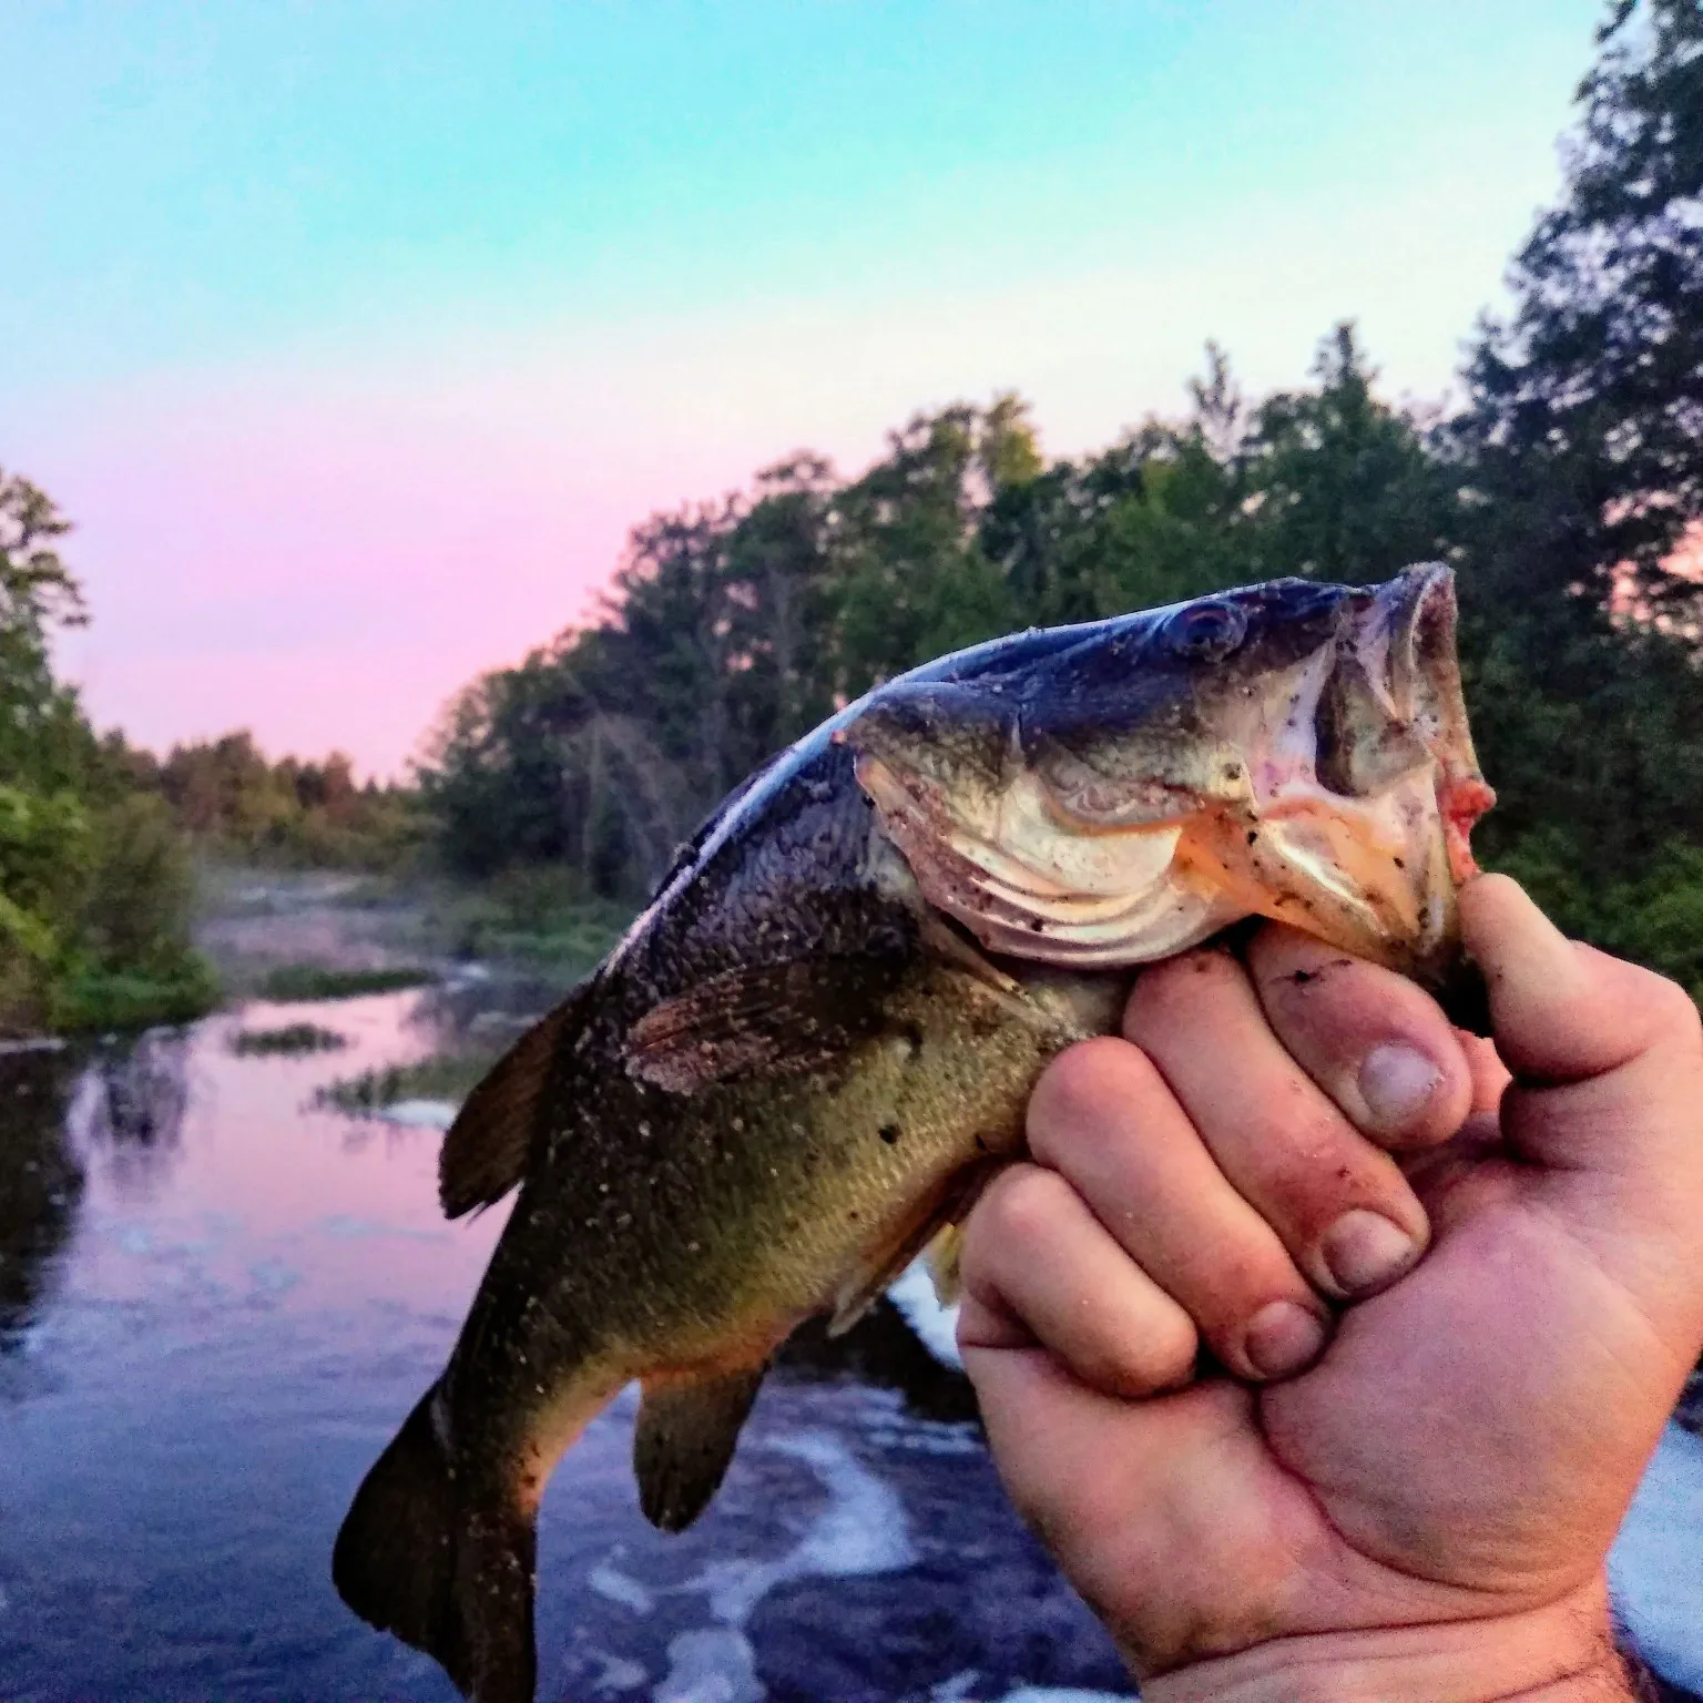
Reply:
<svg viewBox="0 0 1703 1703"><path fill-rule="evenodd" d="M1698 986L1703 915L1703 7L1620 0L1567 191L1436 438L1461 479L1488 857L1563 925Z"/></svg>

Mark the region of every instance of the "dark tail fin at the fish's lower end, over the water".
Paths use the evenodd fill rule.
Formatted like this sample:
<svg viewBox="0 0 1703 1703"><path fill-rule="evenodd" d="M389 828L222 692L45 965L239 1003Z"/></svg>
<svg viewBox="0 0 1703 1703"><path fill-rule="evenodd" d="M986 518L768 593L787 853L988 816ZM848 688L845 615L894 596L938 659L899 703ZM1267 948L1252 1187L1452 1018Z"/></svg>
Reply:
<svg viewBox="0 0 1703 1703"><path fill-rule="evenodd" d="M531 1509L456 1482L426 1391L361 1482L332 1582L356 1614L431 1655L475 1703L531 1703Z"/></svg>

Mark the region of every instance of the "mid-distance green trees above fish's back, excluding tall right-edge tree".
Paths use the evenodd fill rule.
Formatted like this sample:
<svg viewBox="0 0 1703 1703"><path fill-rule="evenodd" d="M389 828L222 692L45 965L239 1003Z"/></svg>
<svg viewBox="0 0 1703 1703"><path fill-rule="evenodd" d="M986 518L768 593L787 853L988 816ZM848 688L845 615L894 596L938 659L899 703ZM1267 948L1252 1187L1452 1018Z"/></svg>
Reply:
<svg viewBox="0 0 1703 1703"><path fill-rule="evenodd" d="M918 416L855 480L800 455L719 507L652 516L598 625L451 705L421 771L439 855L630 904L773 751L930 656L1436 555L1453 480L1376 400L1350 327L1316 380L1248 409L1214 349L1189 416L1080 462L1046 465L1024 405L996 397Z"/></svg>

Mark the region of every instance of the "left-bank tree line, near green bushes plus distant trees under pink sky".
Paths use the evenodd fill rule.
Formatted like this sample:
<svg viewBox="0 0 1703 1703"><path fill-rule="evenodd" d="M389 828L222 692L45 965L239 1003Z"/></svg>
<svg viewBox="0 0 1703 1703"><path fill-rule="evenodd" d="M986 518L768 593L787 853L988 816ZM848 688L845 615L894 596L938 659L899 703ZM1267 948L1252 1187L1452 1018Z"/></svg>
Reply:
<svg viewBox="0 0 1703 1703"><path fill-rule="evenodd" d="M421 840L414 788L358 785L341 754L269 763L237 732L160 760L99 736L53 671L54 630L87 620L66 531L0 468L0 1039L204 1012L198 857L395 869Z"/></svg>

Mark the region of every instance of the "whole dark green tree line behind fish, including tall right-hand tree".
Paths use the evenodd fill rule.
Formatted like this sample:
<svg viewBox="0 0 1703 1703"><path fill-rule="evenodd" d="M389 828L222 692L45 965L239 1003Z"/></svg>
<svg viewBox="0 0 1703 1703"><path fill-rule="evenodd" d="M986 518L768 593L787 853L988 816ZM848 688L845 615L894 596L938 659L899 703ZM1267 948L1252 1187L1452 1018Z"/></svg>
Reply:
<svg viewBox="0 0 1703 1703"><path fill-rule="evenodd" d="M836 705L942 651L1298 574L1444 559L1500 794L1480 829L1579 933L1703 989L1703 7L1618 0L1565 192L1449 409L1378 395L1352 325L1260 400L1226 356L1177 419L1047 462L1025 404L894 431L853 479L795 455L656 514L598 616L451 703L434 845L637 899L702 814Z"/></svg>

